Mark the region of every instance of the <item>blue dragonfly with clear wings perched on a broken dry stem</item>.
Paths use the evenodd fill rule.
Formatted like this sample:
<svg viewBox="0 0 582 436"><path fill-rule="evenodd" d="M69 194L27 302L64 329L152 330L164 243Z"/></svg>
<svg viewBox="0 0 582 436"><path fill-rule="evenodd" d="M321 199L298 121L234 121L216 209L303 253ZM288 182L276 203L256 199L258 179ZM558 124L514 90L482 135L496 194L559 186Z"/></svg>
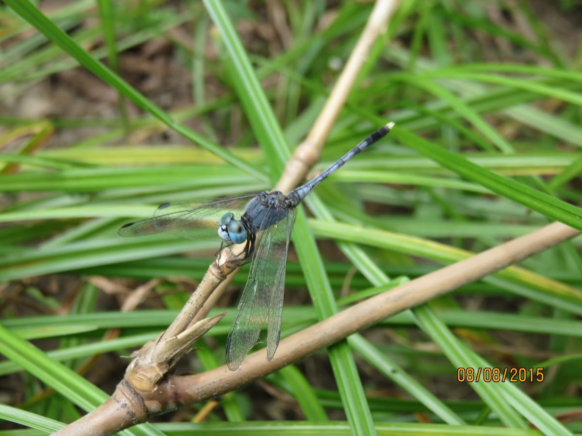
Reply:
<svg viewBox="0 0 582 436"><path fill-rule="evenodd" d="M153 217L127 223L118 233L123 237L132 237L169 232L191 239L216 238L218 233L222 240L221 250L232 244L244 244L239 258L232 261L232 267L250 262L249 279L226 340L226 364L230 370L239 369L251 348L257 344L265 323L267 360L270 361L281 338L285 266L297 205L348 160L388 134L393 126L394 123L382 126L289 195L280 191L264 191L195 207L164 203ZM226 210L229 212L225 213ZM240 219L236 219L232 210L239 212Z"/></svg>

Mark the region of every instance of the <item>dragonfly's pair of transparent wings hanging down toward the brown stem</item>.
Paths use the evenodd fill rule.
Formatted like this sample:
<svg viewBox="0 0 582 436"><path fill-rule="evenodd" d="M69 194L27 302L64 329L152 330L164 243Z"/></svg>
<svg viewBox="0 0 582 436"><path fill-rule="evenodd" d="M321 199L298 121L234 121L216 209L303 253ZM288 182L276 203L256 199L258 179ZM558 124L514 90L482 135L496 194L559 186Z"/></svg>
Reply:
<svg viewBox="0 0 582 436"><path fill-rule="evenodd" d="M281 335L285 266L295 215L296 210L289 209L286 219L267 228L260 240L257 235L249 280L226 341L226 364L230 370L243 363L267 319L267 359L275 355Z"/></svg>

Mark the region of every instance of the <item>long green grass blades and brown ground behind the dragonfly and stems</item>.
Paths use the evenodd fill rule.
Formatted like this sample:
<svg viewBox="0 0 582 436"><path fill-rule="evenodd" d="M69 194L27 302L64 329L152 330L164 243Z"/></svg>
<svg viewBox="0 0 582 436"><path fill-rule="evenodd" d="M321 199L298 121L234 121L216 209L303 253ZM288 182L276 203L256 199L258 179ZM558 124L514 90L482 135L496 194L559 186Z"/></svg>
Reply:
<svg viewBox="0 0 582 436"><path fill-rule="evenodd" d="M0 434L46 434L58 428L48 419L69 422L107 398L122 356L168 325L215 251L171 235L123 240L119 226L161 202L271 188L372 5L102 0L41 2L41 15L5 3ZM582 228L572 44L581 14L569 2L401 3L315 169L388 120L398 128L308 199L317 218L294 232L283 335L455 262L460 249L480 252L551 220ZM305 242L313 237L318 251ZM530 434L528 421L546 434L580 431L580 242L218 404L125 433ZM140 308L120 313L151 278L162 281ZM245 281L243 270L223 305L236 306ZM181 371L223 364L232 312ZM105 340L112 328L119 336ZM468 385L457 381L460 362L542 367L545 379Z"/></svg>

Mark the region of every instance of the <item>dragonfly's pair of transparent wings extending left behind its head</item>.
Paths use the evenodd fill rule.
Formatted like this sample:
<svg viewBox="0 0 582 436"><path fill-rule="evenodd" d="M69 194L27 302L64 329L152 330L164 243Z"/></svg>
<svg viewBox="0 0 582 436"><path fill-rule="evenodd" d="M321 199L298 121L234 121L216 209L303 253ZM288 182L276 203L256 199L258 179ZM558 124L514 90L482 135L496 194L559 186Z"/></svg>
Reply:
<svg viewBox="0 0 582 436"><path fill-rule="evenodd" d="M158 206L152 218L134 221L122 226L119 236L143 236L168 232L183 238L217 237L218 221L226 212L240 216L247 203L258 194L246 194L210 203L164 203Z"/></svg>

